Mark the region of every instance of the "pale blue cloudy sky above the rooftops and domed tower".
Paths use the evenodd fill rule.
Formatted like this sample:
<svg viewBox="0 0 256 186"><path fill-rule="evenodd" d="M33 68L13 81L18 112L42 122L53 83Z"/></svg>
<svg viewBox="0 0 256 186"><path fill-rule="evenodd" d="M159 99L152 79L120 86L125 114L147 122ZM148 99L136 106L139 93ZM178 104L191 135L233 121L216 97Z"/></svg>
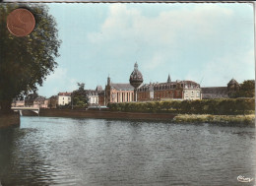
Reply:
<svg viewBox="0 0 256 186"><path fill-rule="evenodd" d="M49 3L59 38L58 67L38 88L51 96L129 83L191 80L219 87L255 79L253 7L247 3Z"/></svg>

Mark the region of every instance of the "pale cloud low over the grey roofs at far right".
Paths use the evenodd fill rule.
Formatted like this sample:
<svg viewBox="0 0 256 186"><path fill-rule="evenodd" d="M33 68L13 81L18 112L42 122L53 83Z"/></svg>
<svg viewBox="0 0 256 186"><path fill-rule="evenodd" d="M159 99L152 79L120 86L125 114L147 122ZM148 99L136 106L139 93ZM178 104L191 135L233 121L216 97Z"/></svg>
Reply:
<svg viewBox="0 0 256 186"><path fill-rule="evenodd" d="M202 69L193 71L186 79L201 83L202 87L226 86L234 78L238 83L255 79L254 51L228 53L205 63Z"/></svg>

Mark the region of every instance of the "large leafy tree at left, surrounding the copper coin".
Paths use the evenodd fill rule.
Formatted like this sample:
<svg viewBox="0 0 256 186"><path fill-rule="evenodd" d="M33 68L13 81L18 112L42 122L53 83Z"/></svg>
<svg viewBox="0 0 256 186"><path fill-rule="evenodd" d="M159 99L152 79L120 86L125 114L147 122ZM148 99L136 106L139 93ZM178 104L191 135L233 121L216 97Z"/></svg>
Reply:
<svg viewBox="0 0 256 186"><path fill-rule="evenodd" d="M8 14L18 7L29 9L35 19L34 30L23 37L6 27ZM0 107L2 112L9 112L13 98L36 92L54 71L61 40L46 5L1 4L0 28Z"/></svg>

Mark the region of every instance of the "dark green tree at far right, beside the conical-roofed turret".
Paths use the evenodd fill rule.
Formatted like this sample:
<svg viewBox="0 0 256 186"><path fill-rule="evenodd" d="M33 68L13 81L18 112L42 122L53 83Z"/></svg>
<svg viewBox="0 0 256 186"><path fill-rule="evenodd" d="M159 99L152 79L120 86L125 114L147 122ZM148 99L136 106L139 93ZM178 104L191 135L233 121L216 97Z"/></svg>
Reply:
<svg viewBox="0 0 256 186"><path fill-rule="evenodd" d="M255 81L246 80L240 85L240 89L235 93L236 97L254 97L255 96Z"/></svg>

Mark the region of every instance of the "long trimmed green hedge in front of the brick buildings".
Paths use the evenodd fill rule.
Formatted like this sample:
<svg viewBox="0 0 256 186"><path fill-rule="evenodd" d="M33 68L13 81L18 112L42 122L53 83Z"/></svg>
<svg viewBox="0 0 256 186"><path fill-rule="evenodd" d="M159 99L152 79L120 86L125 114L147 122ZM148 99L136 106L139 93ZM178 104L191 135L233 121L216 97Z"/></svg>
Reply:
<svg viewBox="0 0 256 186"><path fill-rule="evenodd" d="M254 98L221 98L202 100L171 100L152 102L109 103L112 111L165 112L176 114L251 114L255 110Z"/></svg>

